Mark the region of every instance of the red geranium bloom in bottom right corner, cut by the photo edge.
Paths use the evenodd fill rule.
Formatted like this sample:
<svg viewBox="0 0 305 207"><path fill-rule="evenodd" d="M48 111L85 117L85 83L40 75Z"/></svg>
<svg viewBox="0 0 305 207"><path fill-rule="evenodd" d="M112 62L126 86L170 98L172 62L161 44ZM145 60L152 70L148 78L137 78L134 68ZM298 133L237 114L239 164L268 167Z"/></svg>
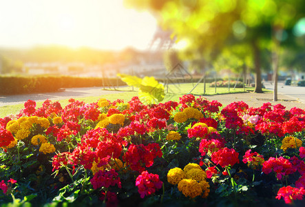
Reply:
<svg viewBox="0 0 305 207"><path fill-rule="evenodd" d="M277 197L275 198L280 200L283 197L286 204L292 204L293 200L295 199L302 200L304 195L304 188L293 188L291 186L287 186L280 188L280 190L277 192Z"/></svg>

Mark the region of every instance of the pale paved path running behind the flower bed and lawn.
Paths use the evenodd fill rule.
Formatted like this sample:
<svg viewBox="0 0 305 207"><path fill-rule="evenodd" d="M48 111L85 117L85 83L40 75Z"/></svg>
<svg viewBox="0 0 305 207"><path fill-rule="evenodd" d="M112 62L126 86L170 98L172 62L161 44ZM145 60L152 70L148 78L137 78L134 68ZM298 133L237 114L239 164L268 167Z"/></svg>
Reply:
<svg viewBox="0 0 305 207"><path fill-rule="evenodd" d="M270 83L265 84L267 89L273 90L271 88ZM273 86L272 86L273 87ZM304 87L297 87L299 90L304 90L301 95L297 94L298 96L294 96L295 89L291 87L284 86L283 88L288 88L288 91L291 92L288 95L283 95L284 90L282 90L281 83L279 84L279 92L278 92L278 100L273 101L273 94L272 93L263 93L257 94L253 92L246 92L246 93L234 93L234 94L227 94L227 95L211 95L211 96L203 96L207 99L217 100L223 105L227 105L232 103L233 101L244 101L250 107L260 107L263 103L270 102L272 105L277 103L281 103L283 106L286 106L286 109L290 109L293 107L305 109L305 97L303 98L301 95L305 95L305 88ZM290 89L289 89L290 88ZM46 99L50 100L60 100L60 99L70 99L74 98L77 99L78 97L98 97L103 96L111 93L120 93L122 91L115 91L115 90L102 90L100 87L93 87L93 88L67 88L64 91L60 92L49 92L49 93L39 93L39 94L30 94L30 95L8 95L8 96L0 96L0 107L1 106L8 106L14 105L18 103L24 103L31 99L33 101L45 101ZM119 98L119 97L118 97ZM1 109L0 109L1 110Z"/></svg>

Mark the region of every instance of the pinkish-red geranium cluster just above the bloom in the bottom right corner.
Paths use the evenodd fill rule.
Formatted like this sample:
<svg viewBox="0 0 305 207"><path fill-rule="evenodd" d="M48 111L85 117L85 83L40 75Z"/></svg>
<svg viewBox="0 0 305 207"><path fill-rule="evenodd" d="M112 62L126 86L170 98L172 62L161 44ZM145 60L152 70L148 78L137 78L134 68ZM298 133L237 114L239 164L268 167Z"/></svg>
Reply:
<svg viewBox="0 0 305 207"><path fill-rule="evenodd" d="M269 174L272 170L276 173L277 179L282 179L283 176L293 174L297 168L284 157L270 157L267 161L264 161L262 172Z"/></svg>

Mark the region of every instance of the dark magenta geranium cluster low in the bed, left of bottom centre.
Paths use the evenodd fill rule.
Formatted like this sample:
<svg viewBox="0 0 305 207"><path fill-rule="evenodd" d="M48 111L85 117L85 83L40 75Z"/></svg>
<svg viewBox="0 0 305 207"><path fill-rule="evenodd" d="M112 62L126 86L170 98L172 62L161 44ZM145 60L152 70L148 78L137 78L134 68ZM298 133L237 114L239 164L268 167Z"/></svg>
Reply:
<svg viewBox="0 0 305 207"><path fill-rule="evenodd" d="M90 182L94 189L101 187L109 188L110 186L115 185L117 185L118 188L122 188L120 184L120 177L118 177L118 172L116 172L114 169L109 171L99 170L94 174L94 177L90 179Z"/></svg>

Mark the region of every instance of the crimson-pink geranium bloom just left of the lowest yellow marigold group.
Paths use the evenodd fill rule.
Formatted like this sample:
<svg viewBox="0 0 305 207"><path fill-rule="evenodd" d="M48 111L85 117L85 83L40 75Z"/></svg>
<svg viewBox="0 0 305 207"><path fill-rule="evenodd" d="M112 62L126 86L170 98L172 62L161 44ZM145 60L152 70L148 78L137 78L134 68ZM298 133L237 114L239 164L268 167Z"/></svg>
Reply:
<svg viewBox="0 0 305 207"><path fill-rule="evenodd" d="M143 171L136 178L136 186L138 187L138 193L140 193L141 198L144 198L145 195L154 194L157 189L162 188L162 184L159 175L148 173L147 171Z"/></svg>

